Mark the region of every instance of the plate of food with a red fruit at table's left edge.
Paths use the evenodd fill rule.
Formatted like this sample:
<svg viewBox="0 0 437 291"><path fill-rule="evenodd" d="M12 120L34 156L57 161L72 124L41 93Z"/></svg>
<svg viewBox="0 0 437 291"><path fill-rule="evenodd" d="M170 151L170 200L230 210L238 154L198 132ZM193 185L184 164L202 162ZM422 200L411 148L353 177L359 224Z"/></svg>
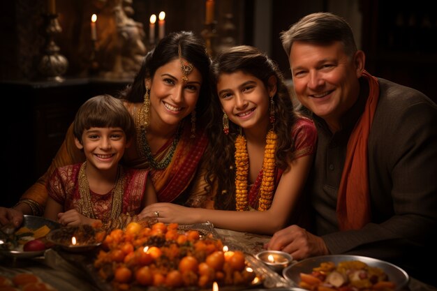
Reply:
<svg viewBox="0 0 437 291"><path fill-rule="evenodd" d="M0 254L15 258L34 258L43 255L50 244L45 238L59 223L40 216L24 215L20 227L2 227Z"/></svg>

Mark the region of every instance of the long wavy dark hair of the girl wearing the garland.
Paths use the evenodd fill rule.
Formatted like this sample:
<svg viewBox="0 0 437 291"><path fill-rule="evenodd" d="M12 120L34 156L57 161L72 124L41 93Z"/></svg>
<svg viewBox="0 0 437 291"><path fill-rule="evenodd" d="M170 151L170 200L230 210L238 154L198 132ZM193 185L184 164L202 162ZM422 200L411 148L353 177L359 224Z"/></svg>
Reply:
<svg viewBox="0 0 437 291"><path fill-rule="evenodd" d="M219 53L211 66L210 82L214 98L210 107L210 122L207 126L209 147L207 149L207 181L212 186L216 179L217 193L215 207L217 209L235 209L235 139L240 132L239 126L229 121L229 134L223 133L223 112L217 95L216 84L223 73L242 71L253 75L268 87L269 77L276 77L277 91L274 98L274 130L278 135L276 148L276 165L288 170L288 161L293 158L295 149L292 140L292 125L297 119L293 110L291 96L283 80L278 66L255 47L240 45ZM268 98L268 96L266 96Z"/></svg>

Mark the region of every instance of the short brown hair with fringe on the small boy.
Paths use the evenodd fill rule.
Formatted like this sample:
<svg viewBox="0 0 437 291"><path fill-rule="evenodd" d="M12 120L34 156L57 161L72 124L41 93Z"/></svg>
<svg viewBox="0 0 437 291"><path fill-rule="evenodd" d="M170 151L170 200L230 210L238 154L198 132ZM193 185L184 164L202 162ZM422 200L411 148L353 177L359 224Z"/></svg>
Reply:
<svg viewBox="0 0 437 291"><path fill-rule="evenodd" d="M120 99L108 94L94 96L77 110L73 122L73 134L82 143L84 130L91 127L115 128L124 131L126 140L135 134L135 125L131 114Z"/></svg>

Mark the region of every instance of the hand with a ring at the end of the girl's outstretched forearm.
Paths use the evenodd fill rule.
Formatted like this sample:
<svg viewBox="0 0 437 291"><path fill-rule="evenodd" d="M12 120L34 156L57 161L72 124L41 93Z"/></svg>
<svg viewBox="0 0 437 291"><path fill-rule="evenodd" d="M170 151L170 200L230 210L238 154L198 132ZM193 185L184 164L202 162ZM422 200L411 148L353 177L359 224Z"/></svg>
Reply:
<svg viewBox="0 0 437 291"><path fill-rule="evenodd" d="M172 203L154 203L142 209L138 218L146 216L158 218L163 223L193 224L201 223L198 208L184 207Z"/></svg>

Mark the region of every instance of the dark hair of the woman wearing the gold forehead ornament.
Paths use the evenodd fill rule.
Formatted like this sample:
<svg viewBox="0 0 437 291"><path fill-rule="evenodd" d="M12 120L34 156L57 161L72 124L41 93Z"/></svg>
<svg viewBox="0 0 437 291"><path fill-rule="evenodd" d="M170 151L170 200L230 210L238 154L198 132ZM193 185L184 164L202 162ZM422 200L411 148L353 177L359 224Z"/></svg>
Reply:
<svg viewBox="0 0 437 291"><path fill-rule="evenodd" d="M182 57L191 62L203 78L199 99L195 106L197 116L201 117L207 111L211 100L211 89L208 83L211 59L202 40L192 31L172 32L161 39L156 47L146 54L133 83L121 91L119 97L130 102L142 102L146 93L145 79L152 78L161 66L178 59L179 46ZM191 117L188 115L189 118Z"/></svg>

